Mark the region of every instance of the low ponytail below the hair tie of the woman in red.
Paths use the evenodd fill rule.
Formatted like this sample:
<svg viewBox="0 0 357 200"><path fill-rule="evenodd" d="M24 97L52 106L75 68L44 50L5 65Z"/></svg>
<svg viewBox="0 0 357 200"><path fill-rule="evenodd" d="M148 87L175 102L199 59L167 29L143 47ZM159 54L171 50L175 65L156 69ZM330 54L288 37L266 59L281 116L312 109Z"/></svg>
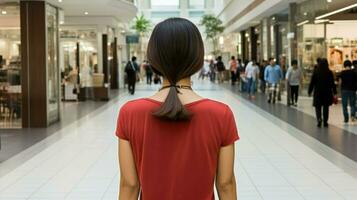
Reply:
<svg viewBox="0 0 357 200"><path fill-rule="evenodd" d="M174 85L171 86L165 102L154 111L153 115L168 120L190 119L191 113L182 105L178 93L178 89Z"/></svg>

